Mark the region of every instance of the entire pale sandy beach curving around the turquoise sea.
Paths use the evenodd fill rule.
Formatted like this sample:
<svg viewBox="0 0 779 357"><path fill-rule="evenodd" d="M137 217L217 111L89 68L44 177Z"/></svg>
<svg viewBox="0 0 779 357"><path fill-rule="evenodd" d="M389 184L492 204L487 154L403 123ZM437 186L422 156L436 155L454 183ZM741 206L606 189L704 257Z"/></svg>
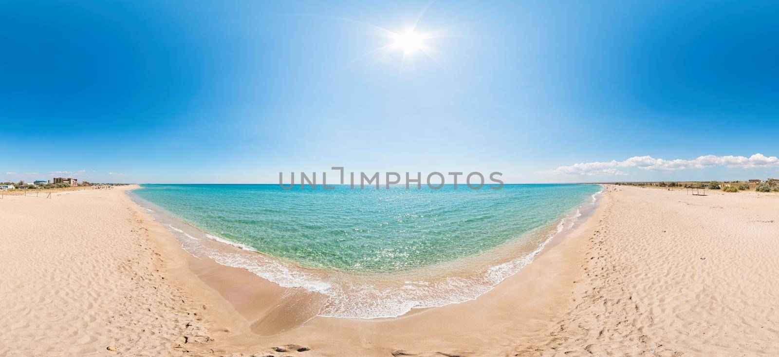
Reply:
<svg viewBox="0 0 779 357"><path fill-rule="evenodd" d="M779 195L608 186L476 300L393 319L185 253L125 189L0 201L0 355L777 355Z"/></svg>

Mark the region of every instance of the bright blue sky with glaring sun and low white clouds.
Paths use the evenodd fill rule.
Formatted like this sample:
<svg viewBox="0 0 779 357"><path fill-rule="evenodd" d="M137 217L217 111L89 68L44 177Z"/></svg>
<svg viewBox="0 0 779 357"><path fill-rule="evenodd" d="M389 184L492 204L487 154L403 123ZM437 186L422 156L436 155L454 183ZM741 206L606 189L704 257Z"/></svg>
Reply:
<svg viewBox="0 0 779 357"><path fill-rule="evenodd" d="M779 176L779 2L0 2L0 182ZM288 175L288 174L287 174Z"/></svg>

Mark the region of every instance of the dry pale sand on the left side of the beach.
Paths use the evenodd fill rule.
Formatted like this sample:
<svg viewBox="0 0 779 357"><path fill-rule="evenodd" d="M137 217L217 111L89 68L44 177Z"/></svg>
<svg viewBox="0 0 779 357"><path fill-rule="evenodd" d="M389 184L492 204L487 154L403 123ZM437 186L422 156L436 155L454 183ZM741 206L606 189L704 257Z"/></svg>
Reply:
<svg viewBox="0 0 779 357"><path fill-rule="evenodd" d="M122 188L4 196L0 355L183 355L206 341L203 306L141 214Z"/></svg>

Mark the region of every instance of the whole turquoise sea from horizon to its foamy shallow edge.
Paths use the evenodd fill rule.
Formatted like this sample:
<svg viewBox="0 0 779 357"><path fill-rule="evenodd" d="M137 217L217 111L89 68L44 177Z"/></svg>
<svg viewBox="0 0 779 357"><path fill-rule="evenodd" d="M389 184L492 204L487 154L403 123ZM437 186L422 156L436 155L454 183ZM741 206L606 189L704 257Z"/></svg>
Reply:
<svg viewBox="0 0 779 357"><path fill-rule="evenodd" d="M213 249L169 225L189 237L182 245L190 253L320 292L328 299L322 316L372 318L488 292L530 263L600 190L143 185L133 193L209 239L263 254Z"/></svg>

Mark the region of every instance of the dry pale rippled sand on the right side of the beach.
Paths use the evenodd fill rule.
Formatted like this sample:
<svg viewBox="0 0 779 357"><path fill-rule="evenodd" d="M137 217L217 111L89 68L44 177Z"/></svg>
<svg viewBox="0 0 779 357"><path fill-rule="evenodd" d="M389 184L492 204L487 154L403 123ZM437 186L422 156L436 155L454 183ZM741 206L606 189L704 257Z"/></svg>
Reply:
<svg viewBox="0 0 779 357"><path fill-rule="evenodd" d="M575 306L520 355L779 355L777 194L609 191Z"/></svg>

